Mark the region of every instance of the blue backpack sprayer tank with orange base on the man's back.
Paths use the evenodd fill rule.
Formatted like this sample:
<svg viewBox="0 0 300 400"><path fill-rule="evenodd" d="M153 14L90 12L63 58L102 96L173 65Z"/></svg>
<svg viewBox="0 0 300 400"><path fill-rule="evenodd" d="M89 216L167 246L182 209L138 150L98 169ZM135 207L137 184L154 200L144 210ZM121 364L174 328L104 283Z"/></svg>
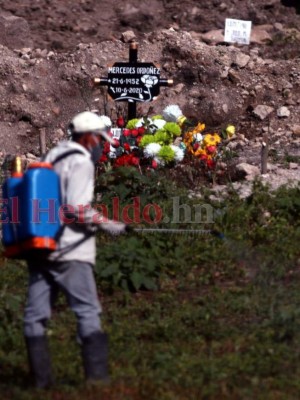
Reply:
<svg viewBox="0 0 300 400"><path fill-rule="evenodd" d="M16 157L2 193L4 255L23 258L32 250L55 250L61 227L58 218L61 198L59 177L53 165L36 162L22 173L21 159Z"/></svg>

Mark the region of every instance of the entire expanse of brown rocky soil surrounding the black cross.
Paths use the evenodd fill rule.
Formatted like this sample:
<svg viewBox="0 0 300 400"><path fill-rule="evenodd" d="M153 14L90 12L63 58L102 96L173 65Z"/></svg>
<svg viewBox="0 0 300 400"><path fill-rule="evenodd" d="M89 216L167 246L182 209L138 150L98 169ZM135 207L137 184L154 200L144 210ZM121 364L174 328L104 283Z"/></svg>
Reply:
<svg viewBox="0 0 300 400"><path fill-rule="evenodd" d="M249 46L223 42L226 17L252 20ZM279 0L186 1L184 7L172 0L0 1L1 159L39 156L41 130L53 146L78 111L98 109L113 120L125 113L123 103L109 101L106 89L95 90L90 81L126 61L135 37L140 61L159 64L162 76L174 79L157 101L139 105L140 114L177 103L210 129L235 124L229 147L236 164L259 167L261 142L269 136L266 181L300 180L299 26L296 8Z"/></svg>

